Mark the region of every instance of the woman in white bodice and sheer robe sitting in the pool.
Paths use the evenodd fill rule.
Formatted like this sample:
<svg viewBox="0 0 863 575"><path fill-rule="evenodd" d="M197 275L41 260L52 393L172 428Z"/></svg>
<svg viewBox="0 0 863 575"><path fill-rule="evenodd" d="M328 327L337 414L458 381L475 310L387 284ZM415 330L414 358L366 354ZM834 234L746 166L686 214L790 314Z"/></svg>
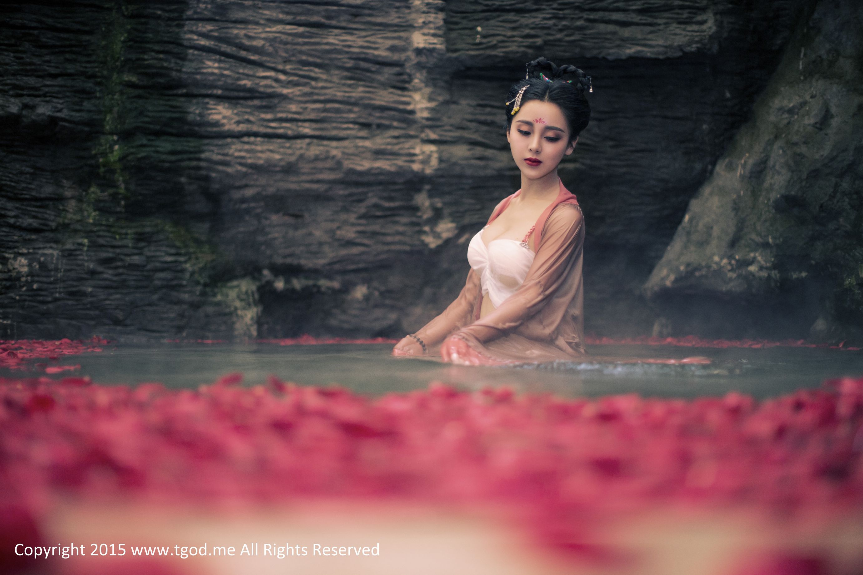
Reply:
<svg viewBox="0 0 863 575"><path fill-rule="evenodd" d="M509 89L507 141L521 189L494 208L470 241L459 296L393 355L440 353L461 365L578 359L583 345L584 217L557 177L587 127L590 77L545 58Z"/></svg>

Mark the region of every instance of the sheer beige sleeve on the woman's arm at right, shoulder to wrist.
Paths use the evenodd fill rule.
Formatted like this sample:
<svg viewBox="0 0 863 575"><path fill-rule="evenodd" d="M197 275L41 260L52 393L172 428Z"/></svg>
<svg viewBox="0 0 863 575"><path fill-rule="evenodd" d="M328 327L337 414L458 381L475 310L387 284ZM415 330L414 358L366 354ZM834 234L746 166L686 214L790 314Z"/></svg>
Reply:
<svg viewBox="0 0 863 575"><path fill-rule="evenodd" d="M457 331L464 340L485 343L518 328L543 308L583 248L584 216L581 209L564 204L551 212L539 249L518 291L487 316Z"/></svg>

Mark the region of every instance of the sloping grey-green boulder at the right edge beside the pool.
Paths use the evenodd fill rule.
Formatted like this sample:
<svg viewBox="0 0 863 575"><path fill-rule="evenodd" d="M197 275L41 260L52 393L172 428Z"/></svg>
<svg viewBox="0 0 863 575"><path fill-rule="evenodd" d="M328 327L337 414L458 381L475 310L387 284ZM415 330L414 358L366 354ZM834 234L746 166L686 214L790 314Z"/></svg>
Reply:
<svg viewBox="0 0 863 575"><path fill-rule="evenodd" d="M845 0L797 28L646 283L665 332L863 339L860 29Z"/></svg>

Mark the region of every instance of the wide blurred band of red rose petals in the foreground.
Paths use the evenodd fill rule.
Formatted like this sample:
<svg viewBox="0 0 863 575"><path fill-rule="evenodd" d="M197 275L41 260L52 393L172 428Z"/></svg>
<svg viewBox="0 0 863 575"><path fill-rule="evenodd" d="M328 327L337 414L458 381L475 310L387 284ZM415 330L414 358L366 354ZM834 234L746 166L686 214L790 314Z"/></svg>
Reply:
<svg viewBox="0 0 863 575"><path fill-rule="evenodd" d="M396 497L518 509L546 544L657 505L863 510L863 378L763 401L508 388L363 397L231 374L197 390L0 378L0 539L56 497ZM13 522L14 524L9 524ZM582 527L576 527L582 526Z"/></svg>

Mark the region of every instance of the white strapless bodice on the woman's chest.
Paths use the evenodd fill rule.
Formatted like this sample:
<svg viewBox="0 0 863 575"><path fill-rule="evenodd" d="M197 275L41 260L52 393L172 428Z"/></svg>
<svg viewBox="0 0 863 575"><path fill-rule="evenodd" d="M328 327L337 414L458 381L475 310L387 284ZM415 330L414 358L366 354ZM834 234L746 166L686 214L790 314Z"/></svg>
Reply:
<svg viewBox="0 0 863 575"><path fill-rule="evenodd" d="M486 247L482 241L483 230L485 228L468 244L468 263L482 281L482 295L488 294L497 308L524 283L536 254L520 241L506 238L490 241Z"/></svg>

